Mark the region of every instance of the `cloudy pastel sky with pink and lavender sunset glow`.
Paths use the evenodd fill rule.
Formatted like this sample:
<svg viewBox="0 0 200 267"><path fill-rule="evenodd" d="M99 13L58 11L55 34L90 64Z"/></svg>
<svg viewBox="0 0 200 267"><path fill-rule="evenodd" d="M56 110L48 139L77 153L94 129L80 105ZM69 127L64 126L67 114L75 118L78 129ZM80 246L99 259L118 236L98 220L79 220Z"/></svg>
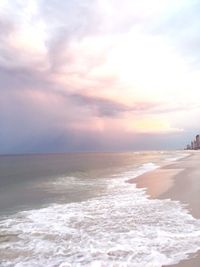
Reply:
<svg viewBox="0 0 200 267"><path fill-rule="evenodd" d="M0 0L0 154L183 148L199 0Z"/></svg>

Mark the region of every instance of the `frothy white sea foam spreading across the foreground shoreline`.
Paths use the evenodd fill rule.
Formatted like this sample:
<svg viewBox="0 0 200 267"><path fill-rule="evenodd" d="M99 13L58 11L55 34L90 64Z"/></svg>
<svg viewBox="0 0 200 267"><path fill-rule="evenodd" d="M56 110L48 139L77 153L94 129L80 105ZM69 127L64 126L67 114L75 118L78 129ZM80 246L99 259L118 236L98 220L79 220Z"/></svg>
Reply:
<svg viewBox="0 0 200 267"><path fill-rule="evenodd" d="M177 201L148 199L125 183L156 165L107 180L107 195L24 211L0 222L2 267L138 266L179 262L200 248L200 221Z"/></svg>

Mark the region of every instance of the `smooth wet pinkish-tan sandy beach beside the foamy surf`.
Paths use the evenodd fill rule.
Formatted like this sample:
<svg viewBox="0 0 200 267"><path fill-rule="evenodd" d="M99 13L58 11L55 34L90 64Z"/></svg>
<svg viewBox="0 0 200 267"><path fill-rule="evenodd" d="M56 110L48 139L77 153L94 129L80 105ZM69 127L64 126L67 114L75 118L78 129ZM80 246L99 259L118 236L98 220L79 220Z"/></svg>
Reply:
<svg viewBox="0 0 200 267"><path fill-rule="evenodd" d="M144 174L137 179L130 180L138 188L146 188L151 198L170 198L186 204L187 209L195 218L200 218L200 152L164 166L155 171ZM200 252L191 255L188 260L176 267L199 267Z"/></svg>

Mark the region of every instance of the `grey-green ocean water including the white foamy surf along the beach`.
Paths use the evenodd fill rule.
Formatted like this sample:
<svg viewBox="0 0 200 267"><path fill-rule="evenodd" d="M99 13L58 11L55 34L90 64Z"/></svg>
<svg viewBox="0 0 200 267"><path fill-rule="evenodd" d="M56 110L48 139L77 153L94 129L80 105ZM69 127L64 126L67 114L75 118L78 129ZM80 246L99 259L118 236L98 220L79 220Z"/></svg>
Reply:
<svg viewBox="0 0 200 267"><path fill-rule="evenodd" d="M200 249L200 220L127 181L187 155L1 156L0 266L158 267L186 259Z"/></svg>

